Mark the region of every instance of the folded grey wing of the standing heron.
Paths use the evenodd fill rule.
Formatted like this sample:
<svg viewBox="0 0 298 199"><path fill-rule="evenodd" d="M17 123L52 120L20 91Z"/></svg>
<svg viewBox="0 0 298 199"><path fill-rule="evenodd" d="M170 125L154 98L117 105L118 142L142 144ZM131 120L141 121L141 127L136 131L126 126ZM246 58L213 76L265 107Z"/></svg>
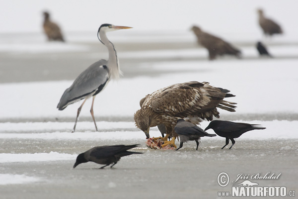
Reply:
<svg viewBox="0 0 298 199"><path fill-rule="evenodd" d="M106 60L99 60L83 71L74 80L73 85L64 92L57 108L63 110L69 104L98 94L109 80L106 65Z"/></svg>

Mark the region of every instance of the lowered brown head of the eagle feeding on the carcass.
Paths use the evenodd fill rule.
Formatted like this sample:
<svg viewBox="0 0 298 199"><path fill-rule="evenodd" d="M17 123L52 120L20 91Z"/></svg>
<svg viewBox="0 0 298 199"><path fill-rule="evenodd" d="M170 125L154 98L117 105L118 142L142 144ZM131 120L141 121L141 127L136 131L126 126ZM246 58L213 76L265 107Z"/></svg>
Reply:
<svg viewBox="0 0 298 199"><path fill-rule="evenodd" d="M138 110L134 115L134 119L136 122L136 126L144 131L147 138L150 138L150 119L148 114L146 114L146 111L144 111L144 109Z"/></svg>

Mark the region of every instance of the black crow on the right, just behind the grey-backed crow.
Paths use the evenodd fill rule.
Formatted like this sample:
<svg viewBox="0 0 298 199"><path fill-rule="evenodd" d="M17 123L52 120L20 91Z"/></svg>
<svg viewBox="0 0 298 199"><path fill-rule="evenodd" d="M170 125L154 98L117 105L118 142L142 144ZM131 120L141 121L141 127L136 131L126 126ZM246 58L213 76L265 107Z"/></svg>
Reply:
<svg viewBox="0 0 298 199"><path fill-rule="evenodd" d="M232 145L229 149L231 149L232 146L235 144L234 138L240 137L240 135L250 130L265 129L265 127L260 127L259 125L260 124L247 124L232 121L214 120L209 123L209 125L205 128L205 131L211 128L219 136L225 137L225 145L223 146L223 148L228 145L228 140L230 139L232 141Z"/></svg>

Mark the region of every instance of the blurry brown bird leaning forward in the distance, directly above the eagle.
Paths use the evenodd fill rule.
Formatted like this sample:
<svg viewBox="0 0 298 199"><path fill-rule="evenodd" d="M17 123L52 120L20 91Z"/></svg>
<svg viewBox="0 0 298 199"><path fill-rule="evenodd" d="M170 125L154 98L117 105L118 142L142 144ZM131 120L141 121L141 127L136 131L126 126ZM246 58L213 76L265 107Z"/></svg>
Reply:
<svg viewBox="0 0 298 199"><path fill-rule="evenodd" d="M192 31L198 38L198 43L207 48L209 60L214 60L217 55L235 55L240 58L241 51L227 43L223 39L204 32L198 26L193 26Z"/></svg>

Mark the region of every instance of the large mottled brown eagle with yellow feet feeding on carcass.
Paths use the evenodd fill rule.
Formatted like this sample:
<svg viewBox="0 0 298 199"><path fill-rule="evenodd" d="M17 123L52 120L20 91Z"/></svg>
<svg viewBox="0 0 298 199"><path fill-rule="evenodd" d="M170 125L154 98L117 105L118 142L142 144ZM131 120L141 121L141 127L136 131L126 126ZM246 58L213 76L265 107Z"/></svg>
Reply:
<svg viewBox="0 0 298 199"><path fill-rule="evenodd" d="M159 89L140 100L141 109L134 115L136 126L149 139L149 128L164 124L166 136L159 137L164 141L161 147L170 144L177 148L175 139L178 135L174 131L177 120L182 118L193 124L199 124L204 119L210 121L213 116L220 117L217 107L234 112L236 103L224 100L234 97L228 93L228 90L210 86L208 82L196 81ZM168 137L172 139L167 141Z"/></svg>

